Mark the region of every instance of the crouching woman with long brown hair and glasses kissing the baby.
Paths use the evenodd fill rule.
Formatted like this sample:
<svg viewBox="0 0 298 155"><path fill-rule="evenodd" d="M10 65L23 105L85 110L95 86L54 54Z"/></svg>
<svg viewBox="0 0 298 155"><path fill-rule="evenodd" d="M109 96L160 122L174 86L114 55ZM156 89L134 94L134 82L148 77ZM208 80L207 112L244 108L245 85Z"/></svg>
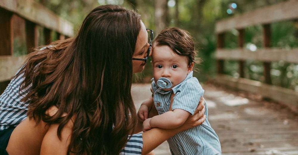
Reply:
<svg viewBox="0 0 298 155"><path fill-rule="evenodd" d="M150 46L139 14L105 5L87 15L73 39L29 54L0 97L0 135L4 135L0 137L2 142L9 140L2 146L4 151L125 153L128 135L137 132L132 73L143 71ZM197 109L201 112L179 128L156 128L138 135L142 153L201 124L204 109Z"/></svg>

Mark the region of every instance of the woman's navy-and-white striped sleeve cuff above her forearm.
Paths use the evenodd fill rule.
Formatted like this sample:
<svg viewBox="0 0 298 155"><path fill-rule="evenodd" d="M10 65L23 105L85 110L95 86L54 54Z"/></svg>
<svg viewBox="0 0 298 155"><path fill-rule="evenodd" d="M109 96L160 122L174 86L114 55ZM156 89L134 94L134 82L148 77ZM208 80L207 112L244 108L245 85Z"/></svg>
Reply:
<svg viewBox="0 0 298 155"><path fill-rule="evenodd" d="M129 138L130 136L128 136ZM142 133L131 135L125 147L121 150L122 155L142 154L143 137Z"/></svg>

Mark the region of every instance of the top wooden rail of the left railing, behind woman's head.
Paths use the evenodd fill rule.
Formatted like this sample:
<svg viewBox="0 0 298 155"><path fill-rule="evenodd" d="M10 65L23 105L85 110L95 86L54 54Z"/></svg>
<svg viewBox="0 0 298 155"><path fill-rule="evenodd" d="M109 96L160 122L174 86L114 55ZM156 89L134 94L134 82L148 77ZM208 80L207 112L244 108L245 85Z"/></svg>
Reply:
<svg viewBox="0 0 298 155"><path fill-rule="evenodd" d="M73 26L70 22L33 0L1 0L0 7L42 27L55 30L66 36L73 36Z"/></svg>

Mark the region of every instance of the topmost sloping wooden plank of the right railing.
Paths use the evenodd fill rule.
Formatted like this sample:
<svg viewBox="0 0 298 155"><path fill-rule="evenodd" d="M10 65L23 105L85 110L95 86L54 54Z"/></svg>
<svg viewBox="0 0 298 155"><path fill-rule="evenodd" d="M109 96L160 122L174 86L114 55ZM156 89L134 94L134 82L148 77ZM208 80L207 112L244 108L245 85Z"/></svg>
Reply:
<svg viewBox="0 0 298 155"><path fill-rule="evenodd" d="M298 0L288 0L279 4L263 7L217 22L215 31L216 33L222 33L233 28L241 29L257 24L297 19L297 8Z"/></svg>

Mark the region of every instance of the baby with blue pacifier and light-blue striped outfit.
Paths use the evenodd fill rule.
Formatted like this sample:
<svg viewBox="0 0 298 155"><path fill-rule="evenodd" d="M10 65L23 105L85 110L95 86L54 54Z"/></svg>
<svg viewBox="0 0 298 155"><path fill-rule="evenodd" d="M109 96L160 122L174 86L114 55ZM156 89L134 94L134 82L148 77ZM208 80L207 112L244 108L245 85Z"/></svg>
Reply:
<svg viewBox="0 0 298 155"><path fill-rule="evenodd" d="M169 28L153 41L153 97L142 103L138 116L143 131L153 127L172 129L193 115L204 90L193 77L196 51L192 37L180 28ZM171 103L171 95L174 94ZM148 118L153 103L159 115ZM205 115L208 108L205 106ZM169 110L170 109L170 110ZM221 144L208 119L167 140L172 154L221 154Z"/></svg>

